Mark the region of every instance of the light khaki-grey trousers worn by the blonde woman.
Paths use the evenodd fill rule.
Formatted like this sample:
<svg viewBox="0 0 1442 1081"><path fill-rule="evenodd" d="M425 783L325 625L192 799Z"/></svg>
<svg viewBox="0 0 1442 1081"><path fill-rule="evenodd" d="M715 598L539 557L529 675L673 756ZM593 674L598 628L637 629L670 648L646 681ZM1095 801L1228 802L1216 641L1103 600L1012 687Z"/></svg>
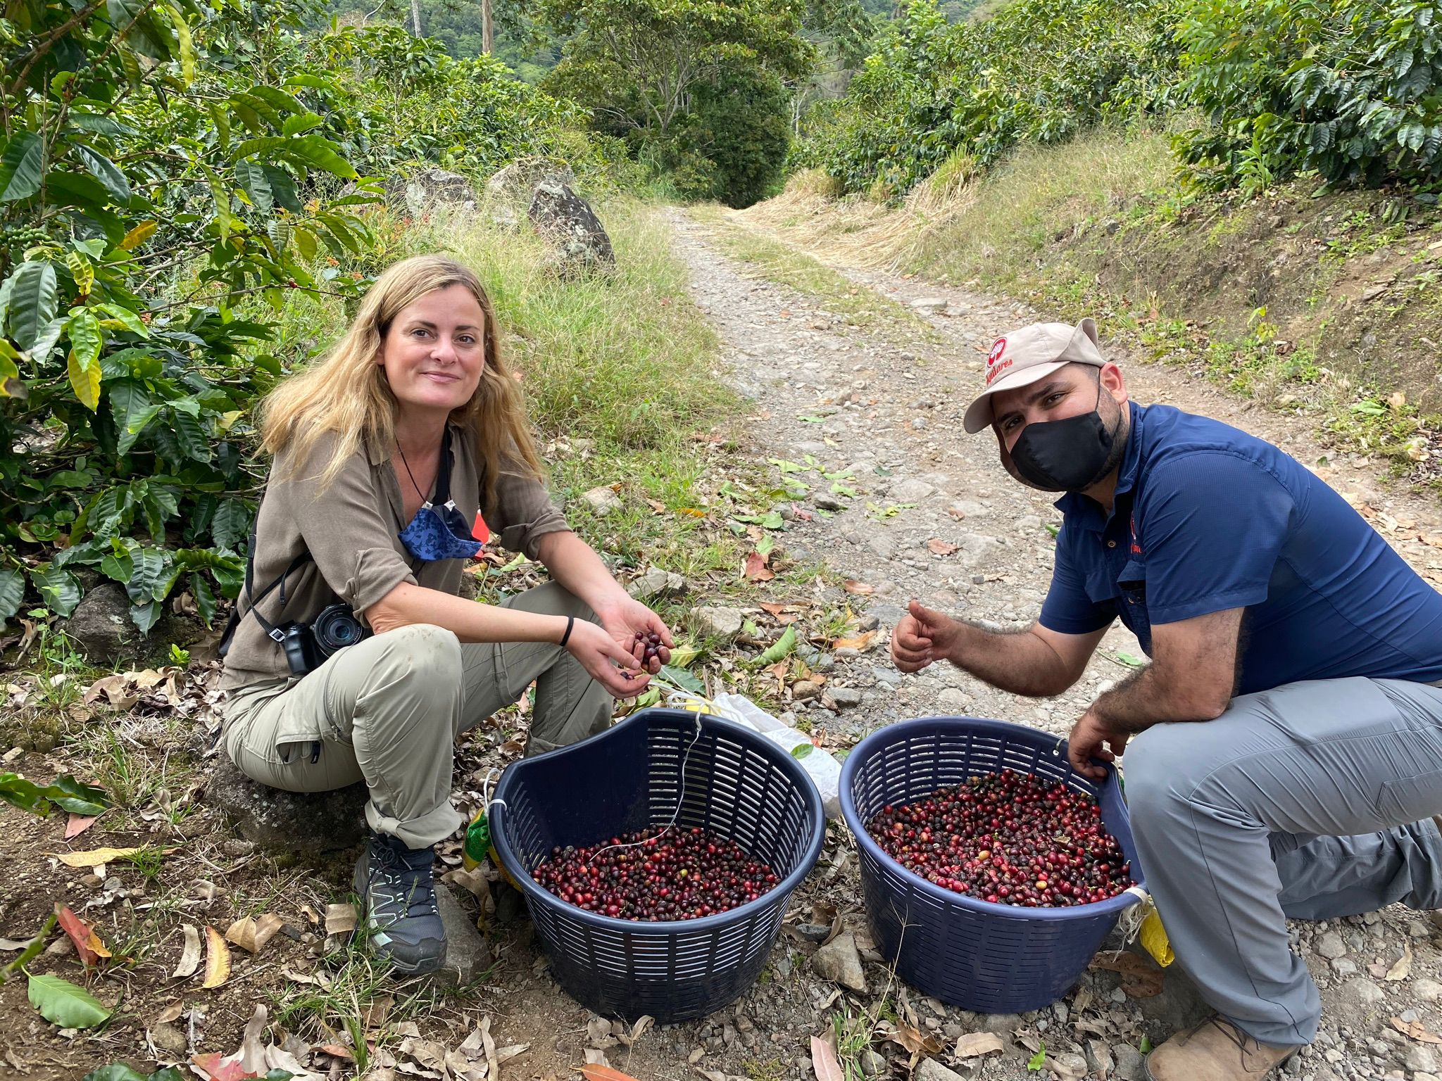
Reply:
<svg viewBox="0 0 1442 1081"><path fill-rule="evenodd" d="M594 620L547 582L506 607ZM231 692L225 752L247 777L288 791L330 791L363 780L371 829L428 848L464 819L451 804L456 737L536 680L526 754L554 751L607 728L613 699L559 646L460 643L414 624L339 650L298 680Z"/></svg>

